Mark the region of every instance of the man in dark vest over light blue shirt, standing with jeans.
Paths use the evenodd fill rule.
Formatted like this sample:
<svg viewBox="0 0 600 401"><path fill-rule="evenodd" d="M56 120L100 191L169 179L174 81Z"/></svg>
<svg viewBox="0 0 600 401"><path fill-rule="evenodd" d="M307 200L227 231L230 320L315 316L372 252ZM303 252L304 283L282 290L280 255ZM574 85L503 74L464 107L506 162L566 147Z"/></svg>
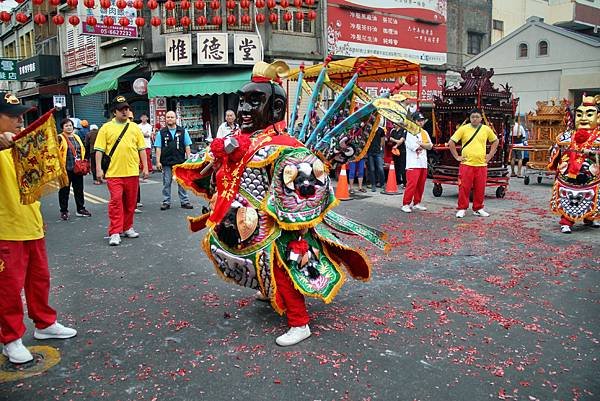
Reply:
<svg viewBox="0 0 600 401"><path fill-rule="evenodd" d="M177 116L174 111L166 115L167 126L156 134L154 146L156 147L156 167L163 172L163 203L160 210L171 208L171 182L173 181L173 166L181 164L190 157L192 139L187 129L177 125ZM187 192L177 184L177 193L181 207L193 209Z"/></svg>

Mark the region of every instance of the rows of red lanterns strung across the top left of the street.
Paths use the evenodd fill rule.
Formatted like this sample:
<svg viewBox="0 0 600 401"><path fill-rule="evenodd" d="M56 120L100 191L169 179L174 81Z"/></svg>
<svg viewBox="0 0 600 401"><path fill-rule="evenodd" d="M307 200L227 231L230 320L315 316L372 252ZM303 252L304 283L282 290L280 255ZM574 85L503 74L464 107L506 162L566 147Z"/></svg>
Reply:
<svg viewBox="0 0 600 401"><path fill-rule="evenodd" d="M20 4L20 3L23 3L25 0L15 0L15 1ZM32 4L39 7L44 4L44 1L45 0L32 0ZM47 0L47 1L48 1L48 4L55 6L55 7L58 7L61 4L61 0ZM83 1L83 5L86 8L92 9L96 6L95 0L82 0L82 1ZM279 0L279 8L281 10L285 10L285 12L282 14L281 17L286 23L289 23L294 18L298 21L302 21L305 18L310 21L313 21L317 18L317 12L314 9L309 9L308 11L299 10L302 7L303 3L304 3L304 5L306 5L308 7L314 6L315 0L292 0L292 2L293 2L293 6L296 8L295 12L286 10L290 6L289 0ZM70 8L77 8L77 6L79 4L79 0L67 0L66 3ZM111 0L99 0L99 4L100 4L100 7L105 10L112 6ZM127 0L116 0L114 4L120 10L125 9L128 6ZM252 18L249 15L251 5L252 5L251 0L239 0L239 6L241 9L241 13L242 13L242 15L239 18L239 22L243 25L250 25L252 22ZM159 4L158 4L157 0L147 0L146 4L144 4L144 0L134 0L131 3L131 6L133 8L135 8L136 10L142 10L144 8L144 6L147 7L149 10L155 10L158 8ZM167 0L167 1L165 1L163 7L167 11L167 13L170 12L171 14L175 14L176 6L177 5L176 5L175 1ZM261 12L261 10L265 8L265 6L267 7L267 9L264 10L264 12ZM268 15L269 22L271 24L276 24L279 21L278 11L275 10L275 8L277 6L278 6L277 0L266 0L266 2L265 2L265 0L254 0L256 23L263 24L267 20L267 15ZM190 0L181 0L179 2L179 7L181 8L181 10L187 11L192 8L192 3ZM206 3L204 0L196 0L193 3L193 7L196 10L204 10L204 9L206 9ZM222 25L223 17L221 17L220 12L219 12L221 9L221 1L220 0L210 0L209 7L211 8L212 13L213 13L213 16L211 17L210 22L213 25ZM237 8L236 0L227 0L225 2L225 9L226 9L225 21L226 21L227 25L229 25L229 26L235 25L238 22L237 16L235 15L236 8ZM15 14L15 20L21 24L27 23L29 21L29 18L30 17L23 12L17 12ZM0 12L0 22L9 23L11 21L11 19L12 19L11 13L9 13L7 11ZM33 21L38 25L43 25L48 22L48 16L44 15L41 11L38 10L38 12L33 16ZM61 14L56 14L51 18L51 21L55 25L63 25L65 23L65 17L62 16ZM69 22L69 24L71 24L73 26L77 26L81 23L81 19L77 15L69 16L67 21ZM195 19L195 23L199 26L205 26L208 24L208 22L209 22L208 18L204 15L197 16ZM96 17L94 17L92 15L88 15L87 17L85 17L85 23L90 26L95 26L98 24L98 20L96 19ZM119 25L126 27L126 26L129 26L130 24L132 24L132 21L127 17L121 17L121 18L119 18L118 23L119 23ZM162 24L162 20L160 17L154 16L150 19L149 23L153 27L159 27ZM182 16L179 19L179 21L177 20L177 18L175 18L174 15L171 15L171 16L168 16L165 18L165 24L169 27L175 27L178 25L178 23L180 26L187 28L192 24L192 20L187 15ZM110 27L115 24L115 20L113 17L105 16L102 18L102 24ZM146 25L146 19L141 16L138 16L133 20L133 24L135 26L137 26L138 28L142 28Z"/></svg>

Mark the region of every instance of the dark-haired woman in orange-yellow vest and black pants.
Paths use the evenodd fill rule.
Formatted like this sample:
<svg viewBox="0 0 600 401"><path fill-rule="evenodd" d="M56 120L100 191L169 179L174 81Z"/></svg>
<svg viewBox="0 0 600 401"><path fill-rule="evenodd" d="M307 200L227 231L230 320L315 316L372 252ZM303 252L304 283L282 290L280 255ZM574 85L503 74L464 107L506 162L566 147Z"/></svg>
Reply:
<svg viewBox="0 0 600 401"><path fill-rule="evenodd" d="M73 121L65 118L61 121L60 126L62 128L62 133L59 136L60 154L65 163L67 175L69 176L69 184L58 191L60 218L65 221L69 220L69 194L71 186L73 187L73 197L75 198L75 206L77 207L75 216L91 217L92 214L84 206L83 176L75 174L73 170L76 159L85 159L85 147L79 136L74 133Z"/></svg>

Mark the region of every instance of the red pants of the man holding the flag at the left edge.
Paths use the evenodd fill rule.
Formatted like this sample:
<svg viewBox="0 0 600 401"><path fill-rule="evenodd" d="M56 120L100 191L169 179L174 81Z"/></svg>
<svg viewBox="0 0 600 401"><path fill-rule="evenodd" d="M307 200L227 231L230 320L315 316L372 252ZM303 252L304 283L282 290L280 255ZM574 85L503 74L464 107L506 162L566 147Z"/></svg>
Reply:
<svg viewBox="0 0 600 401"><path fill-rule="evenodd" d="M0 240L0 342L8 344L25 334L23 301L38 329L56 322L56 311L48 305L50 272L45 240Z"/></svg>

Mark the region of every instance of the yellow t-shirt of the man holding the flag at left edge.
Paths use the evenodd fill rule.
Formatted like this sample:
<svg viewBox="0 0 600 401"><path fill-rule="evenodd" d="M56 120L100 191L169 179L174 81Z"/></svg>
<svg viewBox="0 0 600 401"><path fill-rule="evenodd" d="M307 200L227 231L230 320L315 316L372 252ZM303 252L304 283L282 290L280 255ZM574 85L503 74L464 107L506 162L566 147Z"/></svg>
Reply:
<svg viewBox="0 0 600 401"><path fill-rule="evenodd" d="M0 152L0 240L28 241L44 238L40 202L22 205L17 173L10 149Z"/></svg>

